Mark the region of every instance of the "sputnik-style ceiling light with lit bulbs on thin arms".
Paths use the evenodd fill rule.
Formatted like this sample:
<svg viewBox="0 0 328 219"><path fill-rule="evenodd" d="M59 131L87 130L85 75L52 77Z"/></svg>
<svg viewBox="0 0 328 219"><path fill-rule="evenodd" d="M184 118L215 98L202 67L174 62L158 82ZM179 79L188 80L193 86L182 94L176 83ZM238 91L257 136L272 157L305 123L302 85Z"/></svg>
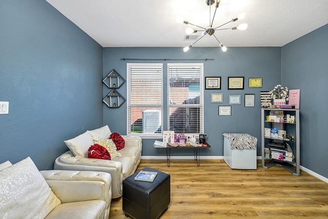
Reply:
<svg viewBox="0 0 328 219"><path fill-rule="evenodd" d="M213 35L213 36L216 38L217 42L219 42L219 45L220 45L222 51L223 51L223 52L226 52L226 51L227 51L227 47L223 46L223 44L220 43L220 41L218 40L218 38L214 35L214 32L215 32L216 30L227 30L227 29L232 29L232 30L246 30L247 27L248 27L248 25L247 25L246 23L241 24L241 25L233 26L232 28L223 28L223 29L218 29L218 28L220 28L220 27L222 27L222 26L224 26L224 25L226 25L226 24L229 24L230 22L235 22L235 21L237 21L237 20L243 19L243 18L245 17L245 13L241 13L241 14L238 15L238 17L233 18L230 22L227 22L227 23L225 23L225 24L222 24L222 25L220 25L220 26L214 28L214 27L213 27L214 17L215 17L216 9L219 7L220 0L217 0L217 1L215 1L215 0L206 0L205 2L206 2L206 4L210 7L210 25L209 25L208 27L206 27L206 28L204 28L204 27L200 27L200 26L197 26L197 25L191 24L191 23L189 23L188 21L183 21L182 19L177 19L177 21L178 21L179 23L190 24L190 25L193 25L193 26L196 26L196 27L201 28L202 30L197 30L197 29L193 29L193 28L187 28L187 29L186 29L186 33L187 33L187 34L196 33L196 32L198 32L198 31L204 31L204 32L202 33L202 36L201 36L199 39L201 39L202 37L204 37L204 36L206 36L206 35L209 35L209 36L212 36L212 35ZM215 2L216 2L216 5L215 5L215 11L214 11L213 19L212 19L212 22L211 22L211 5L213 5ZM193 45L194 45L195 43L197 43L197 42L199 41L199 39L197 39L197 41L194 42L193 44L190 44L189 46L186 46L185 48L183 48L183 52L187 52L191 47L193 47Z"/></svg>

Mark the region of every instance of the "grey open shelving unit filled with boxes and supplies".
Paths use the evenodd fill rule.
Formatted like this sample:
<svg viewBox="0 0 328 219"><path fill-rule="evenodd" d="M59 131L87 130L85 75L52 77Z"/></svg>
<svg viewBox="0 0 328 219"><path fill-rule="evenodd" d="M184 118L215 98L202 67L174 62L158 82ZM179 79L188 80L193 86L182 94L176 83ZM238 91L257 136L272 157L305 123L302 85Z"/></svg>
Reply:
<svg viewBox="0 0 328 219"><path fill-rule="evenodd" d="M278 121L278 119L273 118L273 116L277 116L277 118L286 118L286 121L283 119L283 122L280 122L281 120ZM291 117L293 120L290 119ZM299 109L277 110L262 108L261 120L262 167L270 168L273 166L281 166L290 171L293 175L299 176ZM274 136L272 135L272 130L274 130ZM276 130L278 131L277 133ZM293 152L291 152L291 150ZM295 153L295 157L293 153Z"/></svg>

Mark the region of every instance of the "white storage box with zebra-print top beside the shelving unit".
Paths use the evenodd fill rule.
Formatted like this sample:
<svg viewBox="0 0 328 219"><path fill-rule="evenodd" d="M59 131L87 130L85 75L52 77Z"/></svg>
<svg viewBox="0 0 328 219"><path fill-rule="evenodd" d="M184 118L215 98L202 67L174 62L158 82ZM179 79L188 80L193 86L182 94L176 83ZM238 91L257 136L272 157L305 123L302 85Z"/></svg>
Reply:
<svg viewBox="0 0 328 219"><path fill-rule="evenodd" d="M245 133L224 133L224 161L231 169L257 169L257 138Z"/></svg>

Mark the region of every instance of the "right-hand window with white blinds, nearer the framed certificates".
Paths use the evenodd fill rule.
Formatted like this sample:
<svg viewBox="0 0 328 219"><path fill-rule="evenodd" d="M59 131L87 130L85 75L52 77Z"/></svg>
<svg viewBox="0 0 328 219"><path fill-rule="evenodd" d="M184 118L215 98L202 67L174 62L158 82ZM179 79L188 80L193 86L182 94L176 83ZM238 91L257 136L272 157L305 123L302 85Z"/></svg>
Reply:
<svg viewBox="0 0 328 219"><path fill-rule="evenodd" d="M203 64L168 64L168 130L203 133Z"/></svg>

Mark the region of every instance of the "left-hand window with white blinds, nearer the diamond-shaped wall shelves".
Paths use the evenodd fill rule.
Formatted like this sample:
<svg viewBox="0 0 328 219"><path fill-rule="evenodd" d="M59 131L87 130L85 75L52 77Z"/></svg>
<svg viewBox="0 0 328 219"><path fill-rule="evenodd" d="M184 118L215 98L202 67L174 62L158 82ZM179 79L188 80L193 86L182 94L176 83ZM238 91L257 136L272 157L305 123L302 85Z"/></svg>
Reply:
<svg viewBox="0 0 328 219"><path fill-rule="evenodd" d="M163 64L127 64L127 133L151 136L162 133Z"/></svg>

